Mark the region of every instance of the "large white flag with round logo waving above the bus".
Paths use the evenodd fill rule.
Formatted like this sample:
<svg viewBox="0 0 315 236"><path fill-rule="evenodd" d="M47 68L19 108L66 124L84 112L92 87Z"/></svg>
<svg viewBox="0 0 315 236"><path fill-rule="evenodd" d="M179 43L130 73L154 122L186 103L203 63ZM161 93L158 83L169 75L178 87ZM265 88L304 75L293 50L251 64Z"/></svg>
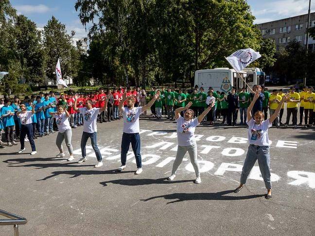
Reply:
<svg viewBox="0 0 315 236"><path fill-rule="evenodd" d="M226 59L237 72L240 72L242 69L247 67L250 63L257 60L261 56L262 55L259 52L248 48L235 51L232 55L226 57Z"/></svg>

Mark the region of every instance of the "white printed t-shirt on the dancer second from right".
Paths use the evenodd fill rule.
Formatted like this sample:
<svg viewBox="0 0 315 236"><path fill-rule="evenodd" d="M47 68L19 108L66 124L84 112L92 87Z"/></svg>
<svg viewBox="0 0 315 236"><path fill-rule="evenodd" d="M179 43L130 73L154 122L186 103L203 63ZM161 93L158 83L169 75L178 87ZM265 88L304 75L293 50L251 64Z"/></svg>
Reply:
<svg viewBox="0 0 315 236"><path fill-rule="evenodd" d="M199 124L198 118L187 121L183 117L179 116L179 118L176 119L176 122L178 146L190 146L196 144L194 131L196 126Z"/></svg>

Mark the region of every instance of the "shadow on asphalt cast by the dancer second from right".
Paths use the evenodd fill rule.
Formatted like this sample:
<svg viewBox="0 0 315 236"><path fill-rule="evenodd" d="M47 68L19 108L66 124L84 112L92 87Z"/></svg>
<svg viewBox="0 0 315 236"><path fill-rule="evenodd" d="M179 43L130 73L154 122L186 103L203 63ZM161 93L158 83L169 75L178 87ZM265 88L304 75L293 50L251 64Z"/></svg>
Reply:
<svg viewBox="0 0 315 236"><path fill-rule="evenodd" d="M120 180L110 180L101 182L101 185L107 186L107 184L116 184L116 185L128 185L128 186L137 186L137 185L155 185L155 184L176 184L176 183L185 183L192 182L192 180L177 180L177 181L167 181L167 178L160 179L120 179Z"/></svg>

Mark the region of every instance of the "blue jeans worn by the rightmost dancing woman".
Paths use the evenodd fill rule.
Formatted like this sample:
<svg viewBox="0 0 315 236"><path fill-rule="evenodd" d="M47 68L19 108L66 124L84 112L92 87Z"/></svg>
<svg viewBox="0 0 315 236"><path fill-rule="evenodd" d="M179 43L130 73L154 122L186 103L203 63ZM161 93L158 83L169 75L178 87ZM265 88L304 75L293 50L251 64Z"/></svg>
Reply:
<svg viewBox="0 0 315 236"><path fill-rule="evenodd" d="M244 166L241 174L241 184L245 184L250 170L258 159L259 169L262 173L262 179L267 189L271 189L270 181L270 154L268 146L249 145Z"/></svg>

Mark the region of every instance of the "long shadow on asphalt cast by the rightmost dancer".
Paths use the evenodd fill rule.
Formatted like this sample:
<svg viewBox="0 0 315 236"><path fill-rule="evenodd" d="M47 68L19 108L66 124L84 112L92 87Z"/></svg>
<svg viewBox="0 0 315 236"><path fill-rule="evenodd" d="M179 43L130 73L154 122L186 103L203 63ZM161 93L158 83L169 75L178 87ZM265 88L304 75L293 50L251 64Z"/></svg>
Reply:
<svg viewBox="0 0 315 236"><path fill-rule="evenodd" d="M224 196L228 193L232 193L234 190L226 190L222 192L216 192L216 193L172 193L167 195L161 195L156 197L151 197L148 199L142 199L141 201L147 202L153 199L157 198L164 198L168 200L174 200L169 203L175 203L175 202L184 202L184 201L190 201L190 200L245 200L245 199L253 199L253 198L259 198L264 196L264 194L256 194L256 195L248 195L248 196Z"/></svg>

